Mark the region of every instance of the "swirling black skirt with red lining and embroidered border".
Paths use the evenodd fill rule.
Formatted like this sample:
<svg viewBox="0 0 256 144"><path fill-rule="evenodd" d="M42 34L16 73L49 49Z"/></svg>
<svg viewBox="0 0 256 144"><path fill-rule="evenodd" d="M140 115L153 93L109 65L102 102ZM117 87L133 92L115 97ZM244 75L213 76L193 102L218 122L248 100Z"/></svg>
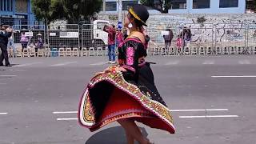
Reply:
<svg viewBox="0 0 256 144"><path fill-rule="evenodd" d="M138 82L119 71L97 74L82 94L78 120L90 131L122 118L174 134L173 118L154 86L149 65L140 67Z"/></svg>

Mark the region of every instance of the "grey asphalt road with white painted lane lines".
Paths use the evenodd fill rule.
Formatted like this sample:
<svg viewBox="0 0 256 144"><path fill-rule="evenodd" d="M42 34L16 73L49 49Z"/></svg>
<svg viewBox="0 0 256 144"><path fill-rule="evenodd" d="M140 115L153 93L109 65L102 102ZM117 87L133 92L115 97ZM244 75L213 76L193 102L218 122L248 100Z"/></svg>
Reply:
<svg viewBox="0 0 256 144"><path fill-rule="evenodd" d="M256 57L150 57L176 134L139 124L155 144L255 144ZM114 122L78 125L82 91L106 57L12 58L0 67L0 144L122 144Z"/></svg>

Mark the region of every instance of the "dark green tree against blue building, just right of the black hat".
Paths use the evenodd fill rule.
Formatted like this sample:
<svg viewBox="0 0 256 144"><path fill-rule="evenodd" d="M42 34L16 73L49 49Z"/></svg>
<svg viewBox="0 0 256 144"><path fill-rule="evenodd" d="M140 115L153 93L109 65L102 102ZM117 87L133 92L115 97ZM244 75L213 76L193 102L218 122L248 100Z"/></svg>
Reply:
<svg viewBox="0 0 256 144"><path fill-rule="evenodd" d="M161 13L168 13L171 6L171 0L140 0L140 2L142 5L152 7Z"/></svg>

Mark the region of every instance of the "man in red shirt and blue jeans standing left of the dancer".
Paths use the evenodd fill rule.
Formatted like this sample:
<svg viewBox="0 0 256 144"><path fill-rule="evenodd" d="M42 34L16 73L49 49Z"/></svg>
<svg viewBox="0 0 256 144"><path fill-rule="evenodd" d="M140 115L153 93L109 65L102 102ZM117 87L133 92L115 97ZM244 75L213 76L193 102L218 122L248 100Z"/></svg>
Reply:
<svg viewBox="0 0 256 144"><path fill-rule="evenodd" d="M110 26L104 26L104 31L108 33L108 55L109 55L109 63L114 64L115 63L115 34L116 30L114 28L114 25Z"/></svg>

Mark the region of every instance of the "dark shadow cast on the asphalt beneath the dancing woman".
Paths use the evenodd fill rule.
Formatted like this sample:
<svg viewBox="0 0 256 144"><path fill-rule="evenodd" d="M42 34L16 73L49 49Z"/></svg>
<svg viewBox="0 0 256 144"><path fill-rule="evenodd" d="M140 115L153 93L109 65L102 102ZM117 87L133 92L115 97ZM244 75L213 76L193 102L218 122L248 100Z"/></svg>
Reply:
<svg viewBox="0 0 256 144"><path fill-rule="evenodd" d="M146 130L140 127L142 134L147 136ZM126 134L122 129L122 126L110 127L106 130L99 131L92 135L86 142L86 144L126 144Z"/></svg>

